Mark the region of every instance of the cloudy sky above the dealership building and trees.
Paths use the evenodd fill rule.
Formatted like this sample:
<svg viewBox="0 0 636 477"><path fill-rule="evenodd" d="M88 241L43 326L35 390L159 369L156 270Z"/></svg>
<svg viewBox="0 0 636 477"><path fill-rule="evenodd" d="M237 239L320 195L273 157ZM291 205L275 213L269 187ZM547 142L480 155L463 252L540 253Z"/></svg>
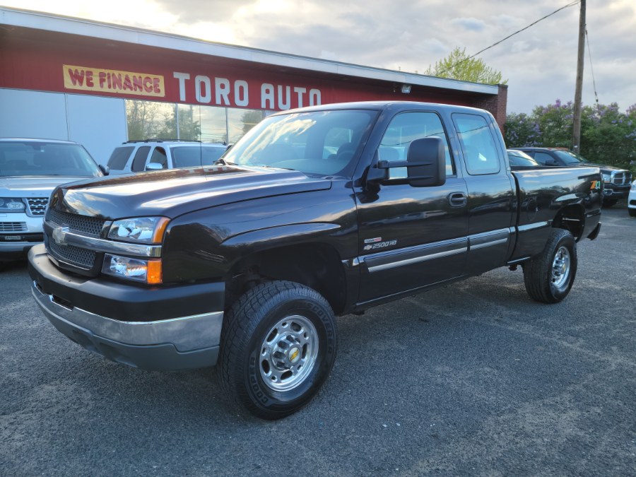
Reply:
<svg viewBox="0 0 636 477"><path fill-rule="evenodd" d="M474 54L572 0L0 0L1 6L131 25L306 57L423 73ZM508 112L572 100L579 4L480 57L507 78ZM636 1L588 0L583 102L636 103Z"/></svg>

